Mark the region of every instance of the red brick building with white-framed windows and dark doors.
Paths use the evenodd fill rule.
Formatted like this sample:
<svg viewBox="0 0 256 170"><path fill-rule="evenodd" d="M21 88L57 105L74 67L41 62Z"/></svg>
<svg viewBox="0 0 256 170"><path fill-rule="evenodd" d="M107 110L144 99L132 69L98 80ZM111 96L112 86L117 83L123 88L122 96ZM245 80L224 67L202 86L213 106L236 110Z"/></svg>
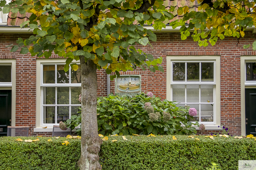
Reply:
<svg viewBox="0 0 256 170"><path fill-rule="evenodd" d="M79 106L79 73L65 73L65 59L59 56L42 59L4 48L15 44L18 37L31 35L28 28L12 26L27 17L10 22L2 19L0 23L0 123L3 129L7 125L28 125L29 135L51 135L53 125L68 119ZM195 107L195 119L206 124L206 133L218 132L218 126L223 125L233 135L256 134L256 52L243 49L255 40L255 28L248 29L239 42L227 37L213 47L199 47L191 37L182 41L178 29L169 26L155 33L153 48L137 47L161 56L165 72L138 69L121 75L139 76L143 92ZM98 71L98 96L116 92L115 84L105 71Z"/></svg>

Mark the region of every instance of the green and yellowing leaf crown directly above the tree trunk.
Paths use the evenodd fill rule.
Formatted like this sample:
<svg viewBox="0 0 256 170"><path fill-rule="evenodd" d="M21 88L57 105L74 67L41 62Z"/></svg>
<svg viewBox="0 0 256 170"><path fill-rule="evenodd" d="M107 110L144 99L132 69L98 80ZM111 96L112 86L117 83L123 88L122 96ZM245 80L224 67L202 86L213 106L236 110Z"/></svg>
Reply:
<svg viewBox="0 0 256 170"><path fill-rule="evenodd" d="M12 46L11 52L22 46L21 54L49 58L53 52L68 58L64 70L68 70L73 59L84 56L105 68L106 72L133 70L137 66L143 70L163 71L162 58L154 58L136 49L136 43L146 46L156 41L156 35L143 28L144 24L159 25L159 22L173 19L162 5L161 0L14 0L0 6L3 13L32 13L29 21L20 26L33 29L34 35ZM148 10L153 6L154 10ZM40 25L41 27L38 27ZM156 26L159 27L159 26ZM165 25L164 25L165 27ZM109 64L109 66L108 66ZM77 70L76 63L71 64ZM111 78L115 78L115 75Z"/></svg>

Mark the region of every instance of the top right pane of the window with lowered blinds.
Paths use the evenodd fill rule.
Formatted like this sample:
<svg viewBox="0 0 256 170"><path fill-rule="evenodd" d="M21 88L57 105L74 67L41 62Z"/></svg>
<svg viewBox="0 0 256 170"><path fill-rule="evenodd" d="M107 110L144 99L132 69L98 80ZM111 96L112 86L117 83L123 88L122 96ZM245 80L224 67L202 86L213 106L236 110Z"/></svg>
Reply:
<svg viewBox="0 0 256 170"><path fill-rule="evenodd" d="M201 81L213 82L214 63L201 63Z"/></svg>

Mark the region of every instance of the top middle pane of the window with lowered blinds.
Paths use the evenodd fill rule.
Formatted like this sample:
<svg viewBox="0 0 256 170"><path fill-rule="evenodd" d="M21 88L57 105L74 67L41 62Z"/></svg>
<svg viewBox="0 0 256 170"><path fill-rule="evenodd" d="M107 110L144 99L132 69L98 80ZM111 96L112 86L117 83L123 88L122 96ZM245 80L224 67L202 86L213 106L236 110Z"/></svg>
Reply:
<svg viewBox="0 0 256 170"><path fill-rule="evenodd" d="M199 63L187 63L187 81L199 81Z"/></svg>

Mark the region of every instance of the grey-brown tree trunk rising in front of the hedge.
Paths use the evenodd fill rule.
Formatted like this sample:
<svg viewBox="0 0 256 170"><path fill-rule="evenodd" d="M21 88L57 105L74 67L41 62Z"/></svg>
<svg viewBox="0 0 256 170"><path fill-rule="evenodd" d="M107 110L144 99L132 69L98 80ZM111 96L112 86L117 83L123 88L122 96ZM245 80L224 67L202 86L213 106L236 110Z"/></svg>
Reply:
<svg viewBox="0 0 256 170"><path fill-rule="evenodd" d="M98 135L97 124L97 67L93 60L80 56L81 63L81 104L82 104L82 134L80 170L101 170L99 150L102 140Z"/></svg>

